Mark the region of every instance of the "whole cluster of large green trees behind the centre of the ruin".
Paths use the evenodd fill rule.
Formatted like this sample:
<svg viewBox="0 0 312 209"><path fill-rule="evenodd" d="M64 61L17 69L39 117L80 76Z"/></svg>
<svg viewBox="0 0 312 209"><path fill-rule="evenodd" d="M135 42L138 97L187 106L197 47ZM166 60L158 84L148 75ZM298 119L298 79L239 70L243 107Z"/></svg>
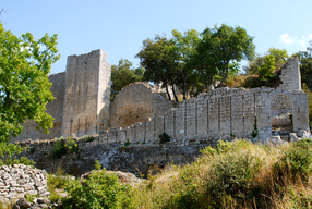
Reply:
<svg viewBox="0 0 312 209"><path fill-rule="evenodd" d="M225 24L201 34L194 29L183 34L172 30L169 39L156 35L143 40L136 57L146 69L147 81L161 83L166 89L178 87L185 99L188 94L194 97L212 84L221 86L238 71L238 62L254 57L252 41L245 29Z"/></svg>

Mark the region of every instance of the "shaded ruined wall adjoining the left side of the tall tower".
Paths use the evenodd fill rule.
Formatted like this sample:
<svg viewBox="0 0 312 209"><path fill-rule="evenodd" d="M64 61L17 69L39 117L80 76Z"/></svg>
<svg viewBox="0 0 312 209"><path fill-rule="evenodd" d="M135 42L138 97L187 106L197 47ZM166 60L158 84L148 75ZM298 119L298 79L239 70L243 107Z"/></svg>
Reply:
<svg viewBox="0 0 312 209"><path fill-rule="evenodd" d="M49 134L45 134L44 131L37 131L35 123L32 120L26 120L23 125L24 131L21 135L12 138L12 142L22 140L26 138L37 139L46 138L51 139L60 137L62 135L62 114L63 114L63 97L65 91L65 73L58 73L49 75L49 82L52 83L50 91L56 98L47 104L47 112L55 118L53 128L49 128Z"/></svg>

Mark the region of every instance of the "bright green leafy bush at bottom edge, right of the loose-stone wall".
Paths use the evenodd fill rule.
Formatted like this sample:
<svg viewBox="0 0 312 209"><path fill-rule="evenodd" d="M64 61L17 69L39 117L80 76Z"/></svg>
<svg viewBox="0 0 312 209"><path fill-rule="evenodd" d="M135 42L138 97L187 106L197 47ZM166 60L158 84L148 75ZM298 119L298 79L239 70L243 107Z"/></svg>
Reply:
<svg viewBox="0 0 312 209"><path fill-rule="evenodd" d="M63 200L64 208L127 208L131 205L129 185L118 181L118 176L107 174L106 170L93 171L87 179L71 181L67 185L69 198Z"/></svg>

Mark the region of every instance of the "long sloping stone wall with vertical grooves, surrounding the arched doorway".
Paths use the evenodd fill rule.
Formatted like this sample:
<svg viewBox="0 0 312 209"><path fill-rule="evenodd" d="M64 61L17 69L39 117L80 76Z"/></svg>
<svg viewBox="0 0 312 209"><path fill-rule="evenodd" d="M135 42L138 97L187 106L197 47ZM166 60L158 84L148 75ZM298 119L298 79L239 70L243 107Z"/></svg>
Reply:
<svg viewBox="0 0 312 209"><path fill-rule="evenodd" d="M308 97L299 90L274 88L219 88L199 98L180 103L164 115L147 118L125 128L111 128L104 133L108 143L158 143L159 134L167 133L173 140L185 143L218 140L221 136L252 138L254 125L259 130L255 140L267 140L272 133L272 102L285 96L292 103L292 131L309 130Z"/></svg>

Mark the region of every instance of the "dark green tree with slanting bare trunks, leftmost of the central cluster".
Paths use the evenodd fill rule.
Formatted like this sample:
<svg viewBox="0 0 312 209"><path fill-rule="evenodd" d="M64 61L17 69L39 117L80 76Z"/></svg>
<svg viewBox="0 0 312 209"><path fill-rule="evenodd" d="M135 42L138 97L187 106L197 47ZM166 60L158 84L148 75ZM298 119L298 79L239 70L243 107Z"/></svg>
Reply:
<svg viewBox="0 0 312 209"><path fill-rule="evenodd" d="M143 47L135 57L140 58L141 65L146 70L144 78L161 84L170 100L169 87L171 86L175 100L178 101L173 86L178 78L179 63L176 61L179 54L175 49L172 40L156 35L154 39L143 40Z"/></svg>

